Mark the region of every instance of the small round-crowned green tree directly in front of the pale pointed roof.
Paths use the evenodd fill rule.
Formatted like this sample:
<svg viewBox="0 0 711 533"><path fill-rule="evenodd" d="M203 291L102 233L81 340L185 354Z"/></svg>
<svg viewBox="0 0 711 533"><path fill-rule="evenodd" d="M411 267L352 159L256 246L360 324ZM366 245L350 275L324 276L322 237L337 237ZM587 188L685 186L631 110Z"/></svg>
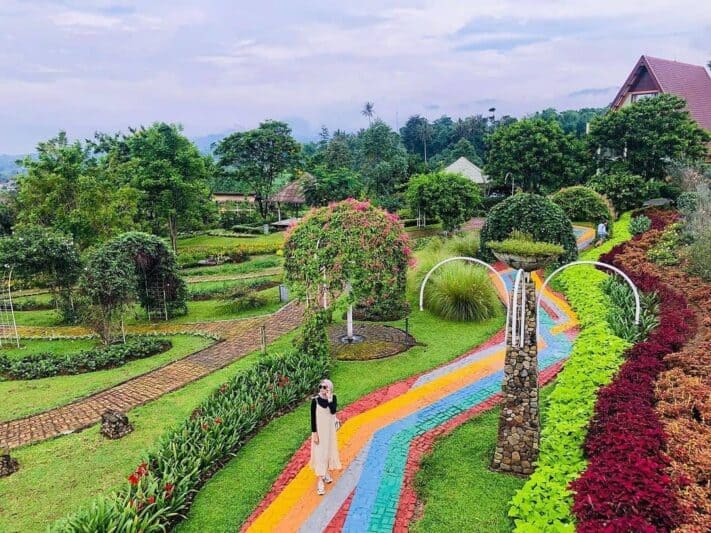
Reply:
<svg viewBox="0 0 711 533"><path fill-rule="evenodd" d="M473 217L482 202L476 184L447 172L413 176L406 196L413 212L439 218L445 231L454 231Z"/></svg>

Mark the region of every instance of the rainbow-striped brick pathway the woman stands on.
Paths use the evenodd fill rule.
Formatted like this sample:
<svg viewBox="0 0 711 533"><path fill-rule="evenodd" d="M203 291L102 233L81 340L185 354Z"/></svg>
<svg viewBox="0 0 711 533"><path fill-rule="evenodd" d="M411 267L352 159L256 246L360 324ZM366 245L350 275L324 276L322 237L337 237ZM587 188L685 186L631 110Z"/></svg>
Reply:
<svg viewBox="0 0 711 533"><path fill-rule="evenodd" d="M592 230L576 228L578 243ZM511 284L511 270L505 273ZM534 276L537 285L541 280ZM577 329L572 310L546 291L541 312L539 368L551 379L568 356ZM243 531L404 531L412 519L419 460L435 438L499 399L503 331L458 359L375 391L341 411L338 442L343 470L325 496L316 494L305 442L243 526Z"/></svg>

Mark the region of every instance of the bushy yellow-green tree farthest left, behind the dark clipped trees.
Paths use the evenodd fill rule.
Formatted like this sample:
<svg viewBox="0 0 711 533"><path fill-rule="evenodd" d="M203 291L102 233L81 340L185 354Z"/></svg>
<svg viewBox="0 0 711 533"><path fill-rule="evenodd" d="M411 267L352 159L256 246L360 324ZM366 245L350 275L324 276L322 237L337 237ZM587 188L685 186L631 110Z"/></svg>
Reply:
<svg viewBox="0 0 711 533"><path fill-rule="evenodd" d="M17 179L19 224L58 229L82 248L135 226L138 192L117 181L89 143L70 143L60 132L22 164L27 172Z"/></svg>

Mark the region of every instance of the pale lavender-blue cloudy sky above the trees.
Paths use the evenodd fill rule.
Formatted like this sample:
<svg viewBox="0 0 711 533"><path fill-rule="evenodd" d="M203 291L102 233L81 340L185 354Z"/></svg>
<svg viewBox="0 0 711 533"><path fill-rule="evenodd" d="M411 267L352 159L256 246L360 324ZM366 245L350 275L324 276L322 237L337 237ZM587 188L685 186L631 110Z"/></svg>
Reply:
<svg viewBox="0 0 711 533"><path fill-rule="evenodd" d="M694 0L0 0L0 153L180 122L300 136L609 103L642 53L705 64Z"/></svg>

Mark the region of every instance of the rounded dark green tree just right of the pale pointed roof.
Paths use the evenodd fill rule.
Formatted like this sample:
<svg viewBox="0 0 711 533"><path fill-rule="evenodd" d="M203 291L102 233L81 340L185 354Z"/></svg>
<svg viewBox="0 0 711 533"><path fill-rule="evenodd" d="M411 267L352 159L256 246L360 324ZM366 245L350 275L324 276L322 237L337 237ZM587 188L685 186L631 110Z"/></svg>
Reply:
<svg viewBox="0 0 711 533"><path fill-rule="evenodd" d="M498 185L507 175L528 192L552 192L582 179L583 149L557 122L523 119L489 138L485 172Z"/></svg>

